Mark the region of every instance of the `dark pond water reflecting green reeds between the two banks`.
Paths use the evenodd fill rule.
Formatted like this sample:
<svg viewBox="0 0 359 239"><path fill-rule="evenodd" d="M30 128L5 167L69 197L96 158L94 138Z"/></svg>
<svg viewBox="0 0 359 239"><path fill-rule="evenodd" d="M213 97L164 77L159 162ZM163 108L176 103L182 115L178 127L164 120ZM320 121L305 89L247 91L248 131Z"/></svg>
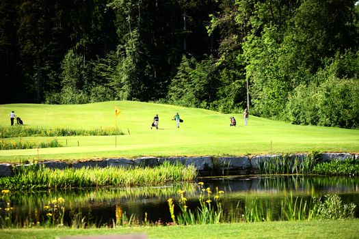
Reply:
<svg viewBox="0 0 359 239"><path fill-rule="evenodd" d="M256 200L263 201L272 211L280 210L284 197L321 197L338 195L344 203L355 203L356 217L359 217L359 177L308 177L302 175L256 175L226 178L202 178L203 188L211 188L221 195L224 210L236 206L243 207ZM198 181L198 182L199 182ZM83 188L36 192L12 193L14 221L41 221L46 216L44 206L55 198L65 200L65 219L73 219L74 214L86 216L86 220L97 225L111 225L120 206L127 216L133 215L143 221L145 213L148 221L170 222L168 199L180 198L179 190L185 191L187 206L198 206L200 188L198 184L171 184L165 186L142 186L131 188ZM1 204L1 202L0 202ZM1 206L1 205L0 205ZM71 216L70 216L71 215ZM89 216L91 215L91 216Z"/></svg>

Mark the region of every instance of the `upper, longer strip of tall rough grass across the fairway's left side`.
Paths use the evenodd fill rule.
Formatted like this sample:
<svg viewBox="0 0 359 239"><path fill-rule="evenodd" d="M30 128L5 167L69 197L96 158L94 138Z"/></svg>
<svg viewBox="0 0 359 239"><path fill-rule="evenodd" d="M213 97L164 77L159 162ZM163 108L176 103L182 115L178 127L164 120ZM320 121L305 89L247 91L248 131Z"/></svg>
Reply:
<svg viewBox="0 0 359 239"><path fill-rule="evenodd" d="M124 135L117 127L81 130L73 128L28 128L26 126L0 127L0 138L15 137L62 137L62 136L101 136Z"/></svg>

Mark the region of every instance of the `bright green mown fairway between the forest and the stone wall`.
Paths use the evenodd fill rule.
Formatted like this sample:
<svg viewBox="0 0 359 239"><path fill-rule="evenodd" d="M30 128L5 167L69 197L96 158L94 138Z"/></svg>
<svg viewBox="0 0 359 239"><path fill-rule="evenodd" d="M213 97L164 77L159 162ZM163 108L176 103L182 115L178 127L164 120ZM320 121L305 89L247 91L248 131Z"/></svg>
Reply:
<svg viewBox="0 0 359 239"><path fill-rule="evenodd" d="M115 117L115 107L121 113ZM40 150L1 150L0 162L20 159L87 159L137 156L240 156L308 152L359 152L359 130L295 126L250 116L243 126L241 113L222 114L203 109L146 102L101 102L80 105L2 104L0 126L10 126L11 111L25 127L92 129L118 126L125 135L58 137L66 147ZM178 112L180 128L172 121ZM159 129L150 129L159 114ZM230 127L230 116L237 127ZM16 139L20 140L20 139ZM21 139L46 141L46 137Z"/></svg>

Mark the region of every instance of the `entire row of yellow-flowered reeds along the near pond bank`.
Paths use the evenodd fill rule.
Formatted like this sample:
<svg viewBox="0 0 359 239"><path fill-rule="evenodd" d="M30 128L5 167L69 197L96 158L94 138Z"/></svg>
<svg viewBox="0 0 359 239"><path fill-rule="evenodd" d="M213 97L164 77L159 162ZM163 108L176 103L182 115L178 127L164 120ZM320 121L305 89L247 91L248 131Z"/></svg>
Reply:
<svg viewBox="0 0 359 239"><path fill-rule="evenodd" d="M62 197L58 199L49 200L43 208L38 208L37 212L42 212L45 217L40 218L39 213L30 216L26 221L13 221L12 217L14 208L10 200L10 191L3 190L1 200L5 204L0 209L0 227L12 228L34 227L37 225L45 227L103 227L101 223L89 224L90 221L84 223L92 215L83 216L81 211L70 212L69 225L64 225L65 200ZM341 201L338 195L325 195L321 198L312 197L311 199L304 199L300 197L284 197L280 203L280 215L274 218L274 213L271 212L269 202L248 200L245 201L245 207L224 210L225 205L222 205L221 195L223 191L218 191L215 188L215 193L212 193L211 188L200 188L200 196L198 197L199 206L196 208L189 208L187 206L187 199L185 191L178 191L179 199L168 199L169 212L172 222L149 222L147 214L144 219L134 219L133 215L128 217L126 212L122 211L120 205L116 206L116 217L112 219L113 223L106 225L106 227L117 227L125 225L204 225L215 223L246 223L259 221L311 221L318 219L354 219L356 206L354 203L345 204ZM34 221L35 220L35 221ZM85 225L86 224L86 225Z"/></svg>

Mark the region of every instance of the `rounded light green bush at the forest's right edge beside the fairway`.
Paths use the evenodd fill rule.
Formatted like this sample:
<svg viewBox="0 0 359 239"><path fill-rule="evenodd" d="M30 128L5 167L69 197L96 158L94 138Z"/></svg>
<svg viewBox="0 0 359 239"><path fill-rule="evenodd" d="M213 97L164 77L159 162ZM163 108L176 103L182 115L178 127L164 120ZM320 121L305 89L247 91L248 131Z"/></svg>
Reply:
<svg viewBox="0 0 359 239"><path fill-rule="evenodd" d="M293 124L359 127L359 80L331 78L318 86L297 87L287 103Z"/></svg>

